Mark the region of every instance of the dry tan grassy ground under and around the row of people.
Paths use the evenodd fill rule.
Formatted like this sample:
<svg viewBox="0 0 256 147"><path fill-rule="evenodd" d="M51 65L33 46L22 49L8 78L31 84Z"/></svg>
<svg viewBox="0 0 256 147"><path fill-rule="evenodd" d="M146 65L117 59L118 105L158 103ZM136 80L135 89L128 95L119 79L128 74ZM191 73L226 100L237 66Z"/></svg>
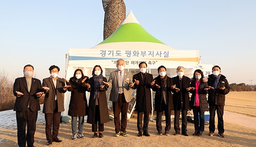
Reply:
<svg viewBox="0 0 256 147"><path fill-rule="evenodd" d="M255 95L256 92L230 92L227 95L227 106L225 106L225 110L236 112L239 109L239 112L241 112L242 109L245 109L242 113L253 116L254 114L252 114L253 112L251 110L255 110ZM228 109L226 109L227 107ZM250 111L247 112L246 109ZM164 128L164 121L162 122L162 126ZM148 132L151 136L137 137L137 116L135 114L135 117L131 117L130 121L128 121L126 131L129 133L129 136L127 137L114 137L114 122L110 121L104 124L105 131L103 132L103 138L92 138L93 132L91 132L91 125L86 123L84 124L83 131L85 138L72 140L71 123L68 123L60 124L58 136L63 141L60 143L53 142L50 146L256 146L256 129L228 122L225 122L224 126L225 138L220 138L218 135L208 136L208 126L205 126L205 132L201 137L193 136L194 124L191 122L188 122L187 126L189 136L174 136L175 131L172 121L170 135L158 136L156 122L150 121ZM14 129L2 128L0 124L0 146L18 146L17 131L15 127L12 128ZM45 124L44 122L37 122L34 145L47 146L46 143Z"/></svg>

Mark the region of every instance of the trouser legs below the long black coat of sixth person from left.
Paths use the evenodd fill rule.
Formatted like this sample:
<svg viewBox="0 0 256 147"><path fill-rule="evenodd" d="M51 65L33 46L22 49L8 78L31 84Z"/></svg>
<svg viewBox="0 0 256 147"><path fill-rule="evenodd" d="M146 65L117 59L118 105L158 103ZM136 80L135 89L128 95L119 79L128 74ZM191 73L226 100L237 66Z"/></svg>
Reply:
<svg viewBox="0 0 256 147"><path fill-rule="evenodd" d="M148 132L148 122L150 121L150 111L144 111L144 112L137 112L137 128L140 133L147 133ZM142 115L144 114L143 119L143 128L142 128Z"/></svg>

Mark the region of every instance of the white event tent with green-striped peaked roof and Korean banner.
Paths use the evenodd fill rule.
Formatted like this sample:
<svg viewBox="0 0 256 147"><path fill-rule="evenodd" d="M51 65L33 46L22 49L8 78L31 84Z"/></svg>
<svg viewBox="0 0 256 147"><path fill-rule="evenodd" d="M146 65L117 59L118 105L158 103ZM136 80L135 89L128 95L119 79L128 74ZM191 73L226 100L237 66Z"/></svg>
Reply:
<svg viewBox="0 0 256 147"><path fill-rule="evenodd" d="M199 51L175 50L146 32L135 18L132 11L121 26L107 39L92 48L70 48L66 56L66 78L73 76L75 69L83 70L84 75L91 77L92 68L100 65L103 75L108 79L110 72L116 70L116 61L125 60L125 68L137 73L138 64L145 61L148 71L158 76L157 68L164 65L167 75L176 76L176 68L184 66L185 76L192 77L195 69L201 68L205 73L211 71L212 65L201 65ZM108 90L110 91L110 90ZM65 98L67 115L70 93ZM110 103L112 104L112 103Z"/></svg>

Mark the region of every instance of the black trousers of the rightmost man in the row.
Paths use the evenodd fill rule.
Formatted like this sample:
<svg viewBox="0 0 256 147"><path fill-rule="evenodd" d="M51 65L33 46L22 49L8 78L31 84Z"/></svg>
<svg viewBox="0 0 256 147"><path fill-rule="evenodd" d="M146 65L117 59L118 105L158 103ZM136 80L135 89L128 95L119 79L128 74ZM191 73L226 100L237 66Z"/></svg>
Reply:
<svg viewBox="0 0 256 147"><path fill-rule="evenodd" d="M223 105L209 105L210 121L209 121L209 131L215 131L215 112L217 111L218 116L218 131L219 133L224 133L224 106Z"/></svg>

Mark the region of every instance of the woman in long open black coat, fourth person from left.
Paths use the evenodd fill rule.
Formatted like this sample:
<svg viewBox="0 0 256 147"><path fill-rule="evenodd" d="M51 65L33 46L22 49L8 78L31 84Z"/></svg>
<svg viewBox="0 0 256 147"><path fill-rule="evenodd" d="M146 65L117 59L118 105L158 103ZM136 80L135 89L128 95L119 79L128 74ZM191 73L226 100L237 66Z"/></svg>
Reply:
<svg viewBox="0 0 256 147"><path fill-rule="evenodd" d="M94 66L93 77L89 79L92 90L87 118L87 122L92 124L93 137L97 137L97 132L99 131L100 138L103 137L104 123L110 121L108 103L106 101L106 90L108 90L109 84L106 78L102 76L102 72L103 70L99 65Z"/></svg>

